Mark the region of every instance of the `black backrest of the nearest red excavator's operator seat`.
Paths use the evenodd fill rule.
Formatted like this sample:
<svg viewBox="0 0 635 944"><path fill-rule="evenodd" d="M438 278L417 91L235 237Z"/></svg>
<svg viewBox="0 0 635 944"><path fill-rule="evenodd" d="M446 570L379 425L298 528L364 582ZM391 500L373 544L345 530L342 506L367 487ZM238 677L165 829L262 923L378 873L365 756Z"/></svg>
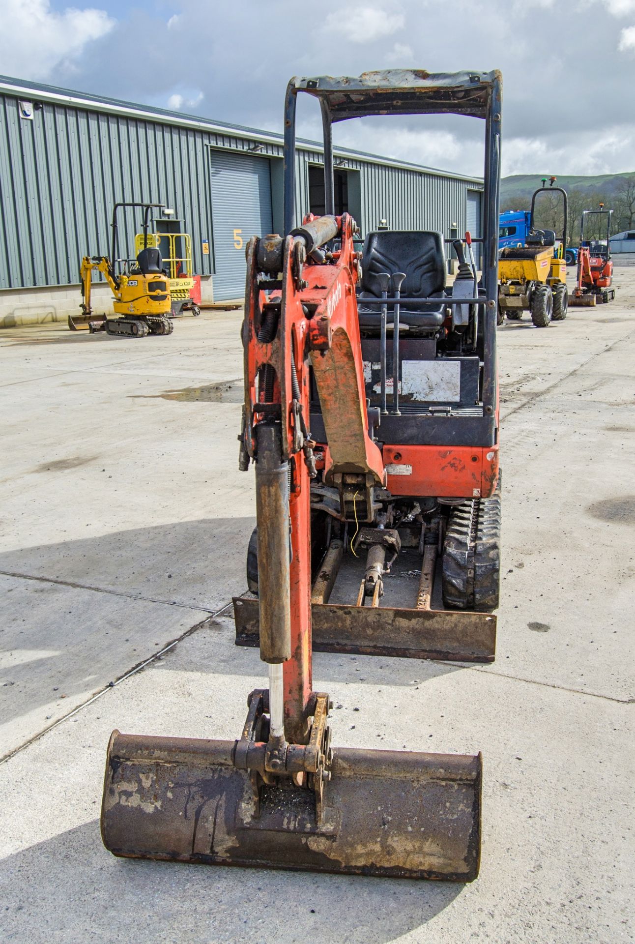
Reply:
<svg viewBox="0 0 635 944"><path fill-rule="evenodd" d="M446 268L442 234L420 229L368 233L361 260L361 291L380 297L377 276L381 272L406 273L402 298L427 298L443 291Z"/></svg>

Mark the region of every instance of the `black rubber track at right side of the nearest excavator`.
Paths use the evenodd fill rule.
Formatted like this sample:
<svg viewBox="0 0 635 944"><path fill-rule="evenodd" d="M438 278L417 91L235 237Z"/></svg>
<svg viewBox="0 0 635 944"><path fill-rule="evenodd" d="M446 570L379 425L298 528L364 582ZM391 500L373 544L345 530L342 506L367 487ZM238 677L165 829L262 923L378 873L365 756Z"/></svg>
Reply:
<svg viewBox="0 0 635 944"><path fill-rule="evenodd" d="M491 612L498 606L500 478L491 498L455 505L443 544L443 603Z"/></svg>

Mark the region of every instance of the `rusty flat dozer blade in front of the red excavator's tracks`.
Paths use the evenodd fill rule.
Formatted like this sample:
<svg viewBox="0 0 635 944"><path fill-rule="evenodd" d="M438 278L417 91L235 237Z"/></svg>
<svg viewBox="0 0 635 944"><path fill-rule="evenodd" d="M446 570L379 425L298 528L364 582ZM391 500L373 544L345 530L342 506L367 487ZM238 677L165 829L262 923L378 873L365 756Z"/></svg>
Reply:
<svg viewBox="0 0 635 944"><path fill-rule="evenodd" d="M315 652L493 662L496 616L465 610L414 610L394 607L313 603ZM234 597L236 645L259 645L257 599Z"/></svg>

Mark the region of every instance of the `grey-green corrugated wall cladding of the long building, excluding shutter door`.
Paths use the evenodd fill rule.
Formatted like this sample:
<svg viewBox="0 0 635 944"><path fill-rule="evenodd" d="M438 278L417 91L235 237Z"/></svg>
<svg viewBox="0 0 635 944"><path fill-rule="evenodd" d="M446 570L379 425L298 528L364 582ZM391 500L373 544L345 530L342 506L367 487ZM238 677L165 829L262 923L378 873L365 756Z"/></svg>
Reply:
<svg viewBox="0 0 635 944"><path fill-rule="evenodd" d="M37 102L37 91L28 98ZM170 125L88 104L44 100L28 121L18 94L0 94L0 288L76 284L83 255L109 254L111 208L121 200L174 207L192 235L194 271L213 275L213 256L202 252L203 240L213 246L208 148L250 146L246 132ZM279 158L282 148L262 143L258 153ZM298 148L298 216L308 210L309 162L321 163L322 155ZM391 228L465 228L473 183L358 158L346 158L343 169L360 174L362 232L380 219ZM129 214L122 252L138 228Z"/></svg>

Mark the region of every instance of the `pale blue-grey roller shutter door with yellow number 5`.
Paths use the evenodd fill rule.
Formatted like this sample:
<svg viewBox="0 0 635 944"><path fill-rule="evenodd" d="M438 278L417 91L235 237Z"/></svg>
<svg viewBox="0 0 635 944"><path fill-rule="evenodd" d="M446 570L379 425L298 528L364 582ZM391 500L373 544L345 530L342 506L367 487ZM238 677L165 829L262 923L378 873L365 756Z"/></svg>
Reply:
<svg viewBox="0 0 635 944"><path fill-rule="evenodd" d="M214 299L244 297L244 248L272 231L269 160L211 152Z"/></svg>

